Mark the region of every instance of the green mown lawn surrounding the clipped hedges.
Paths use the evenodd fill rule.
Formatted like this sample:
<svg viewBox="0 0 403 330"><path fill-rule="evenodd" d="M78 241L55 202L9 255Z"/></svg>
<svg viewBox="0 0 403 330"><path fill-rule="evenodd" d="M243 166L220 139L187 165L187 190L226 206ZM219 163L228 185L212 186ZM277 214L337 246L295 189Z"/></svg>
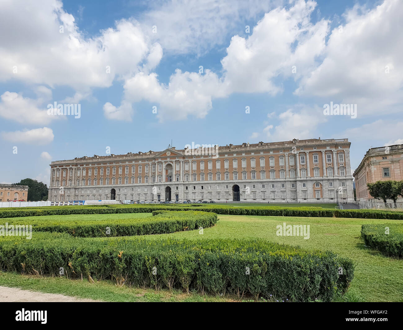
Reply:
<svg viewBox="0 0 403 330"><path fill-rule="evenodd" d="M150 214L142 214L148 216ZM133 218L133 214L95 214L48 216L81 220ZM218 215L220 219L212 228L176 232L163 235L146 235L147 239L166 236L186 239L204 238L262 238L268 241L299 245L305 249L331 250L349 257L356 263L355 277L347 294L340 301L403 301L403 259L388 258L378 251L364 246L361 240L361 224L364 223L402 223L401 220L372 220L351 218L303 218L275 216L230 216ZM27 220L27 218L24 218ZM279 237L276 225L309 224L310 239L303 237ZM29 223L29 222L25 222ZM110 238L114 239L114 238ZM212 297L181 292L154 292L150 289L118 288L111 282L101 281L90 284L86 281L66 280L64 278L34 278L13 273L0 273L0 285L18 286L33 290L63 293L105 301L222 301L235 300L234 297ZM136 300L138 299L138 300Z"/></svg>

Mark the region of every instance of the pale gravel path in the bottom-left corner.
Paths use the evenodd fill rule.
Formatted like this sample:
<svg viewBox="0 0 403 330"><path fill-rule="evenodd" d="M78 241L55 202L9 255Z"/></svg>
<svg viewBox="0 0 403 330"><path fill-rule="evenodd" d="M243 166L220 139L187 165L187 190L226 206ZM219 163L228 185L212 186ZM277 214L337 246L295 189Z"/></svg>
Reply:
<svg viewBox="0 0 403 330"><path fill-rule="evenodd" d="M65 295L58 295L54 293L42 293L35 291L22 290L19 288L8 288L7 286L0 286L0 302L86 302L96 300L75 298Z"/></svg>

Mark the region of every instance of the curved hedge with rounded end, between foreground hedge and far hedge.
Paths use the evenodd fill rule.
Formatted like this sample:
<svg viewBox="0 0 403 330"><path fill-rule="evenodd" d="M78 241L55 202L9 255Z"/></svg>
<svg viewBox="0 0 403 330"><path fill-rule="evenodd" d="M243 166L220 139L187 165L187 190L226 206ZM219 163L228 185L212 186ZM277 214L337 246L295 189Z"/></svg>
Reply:
<svg viewBox="0 0 403 330"><path fill-rule="evenodd" d="M0 221L4 225L6 221ZM115 237L166 234L171 232L207 228L217 222L217 214L200 211L159 211L153 216L132 219L49 219L30 218L27 222L36 232L66 232L73 237ZM8 225L21 225L21 219L11 218Z"/></svg>

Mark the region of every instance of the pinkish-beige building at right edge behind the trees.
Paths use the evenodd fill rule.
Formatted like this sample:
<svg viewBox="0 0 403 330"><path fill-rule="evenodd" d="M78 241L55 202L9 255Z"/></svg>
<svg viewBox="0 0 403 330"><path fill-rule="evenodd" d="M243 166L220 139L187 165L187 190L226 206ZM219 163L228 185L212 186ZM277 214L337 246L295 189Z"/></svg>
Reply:
<svg viewBox="0 0 403 330"><path fill-rule="evenodd" d="M378 201L370 195L367 183L403 180L403 144L369 149L353 176L357 201Z"/></svg>

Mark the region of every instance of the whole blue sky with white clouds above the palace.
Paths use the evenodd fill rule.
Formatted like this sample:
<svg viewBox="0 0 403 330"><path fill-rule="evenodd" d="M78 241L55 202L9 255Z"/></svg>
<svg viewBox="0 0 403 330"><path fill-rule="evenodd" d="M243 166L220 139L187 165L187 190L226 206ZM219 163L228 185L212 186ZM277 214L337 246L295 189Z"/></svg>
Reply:
<svg viewBox="0 0 403 330"><path fill-rule="evenodd" d="M354 170L403 143L402 14L398 0L2 1L0 182L171 139L349 138ZM54 102L80 118L48 116ZM324 115L330 102L356 118Z"/></svg>

